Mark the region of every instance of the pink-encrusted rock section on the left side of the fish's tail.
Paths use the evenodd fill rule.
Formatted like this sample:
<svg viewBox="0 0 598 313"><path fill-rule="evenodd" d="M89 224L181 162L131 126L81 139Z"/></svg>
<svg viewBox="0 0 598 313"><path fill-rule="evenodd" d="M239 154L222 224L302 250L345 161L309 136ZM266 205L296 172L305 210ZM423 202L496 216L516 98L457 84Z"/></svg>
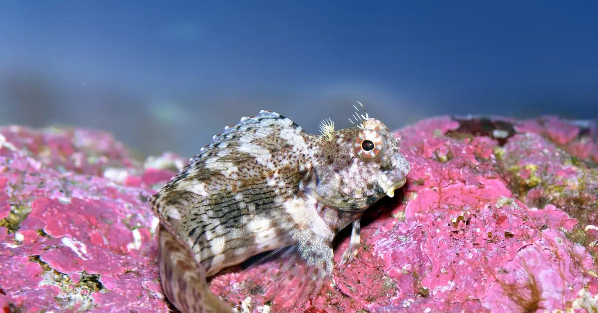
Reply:
<svg viewBox="0 0 598 313"><path fill-rule="evenodd" d="M145 201L174 174L104 132L2 127L0 307L167 312Z"/></svg>

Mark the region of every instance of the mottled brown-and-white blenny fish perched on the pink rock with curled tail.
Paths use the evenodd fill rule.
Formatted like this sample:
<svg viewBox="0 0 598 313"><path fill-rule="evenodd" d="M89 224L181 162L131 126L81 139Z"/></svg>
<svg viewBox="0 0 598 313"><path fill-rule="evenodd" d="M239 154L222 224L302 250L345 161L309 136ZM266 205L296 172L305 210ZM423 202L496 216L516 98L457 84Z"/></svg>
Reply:
<svg viewBox="0 0 598 313"><path fill-rule="evenodd" d="M352 224L346 265L358 252L364 211L392 197L410 171L400 138L363 105L364 113L353 107L352 127L334 130L328 119L320 135L271 111L243 117L149 199L160 217L161 284L177 309L233 312L207 278L283 247L309 269L300 279L311 294L334 285L335 235Z"/></svg>

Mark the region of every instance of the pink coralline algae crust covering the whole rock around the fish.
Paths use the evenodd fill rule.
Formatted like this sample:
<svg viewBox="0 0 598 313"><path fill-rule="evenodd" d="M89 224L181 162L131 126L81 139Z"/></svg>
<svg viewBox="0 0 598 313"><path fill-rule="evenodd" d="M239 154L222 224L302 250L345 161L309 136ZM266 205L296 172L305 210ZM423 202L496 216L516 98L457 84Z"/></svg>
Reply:
<svg viewBox="0 0 598 313"><path fill-rule="evenodd" d="M407 184L367 212L336 287L279 310L288 294L270 302L249 283L269 264L243 264L212 290L239 312L598 309L594 121L444 116L395 135ZM138 162L94 130L0 128L0 308L167 312L145 200L184 164Z"/></svg>

